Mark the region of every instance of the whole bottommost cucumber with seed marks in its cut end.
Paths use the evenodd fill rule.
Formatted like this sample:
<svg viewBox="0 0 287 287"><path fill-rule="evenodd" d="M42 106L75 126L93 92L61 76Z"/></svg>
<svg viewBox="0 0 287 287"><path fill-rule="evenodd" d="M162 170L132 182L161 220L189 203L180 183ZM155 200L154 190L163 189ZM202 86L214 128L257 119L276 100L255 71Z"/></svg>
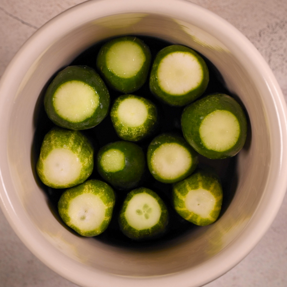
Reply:
<svg viewBox="0 0 287 287"><path fill-rule="evenodd" d="M132 239L150 239L164 233L168 211L152 190L140 187L127 194L119 216L122 232Z"/></svg>

